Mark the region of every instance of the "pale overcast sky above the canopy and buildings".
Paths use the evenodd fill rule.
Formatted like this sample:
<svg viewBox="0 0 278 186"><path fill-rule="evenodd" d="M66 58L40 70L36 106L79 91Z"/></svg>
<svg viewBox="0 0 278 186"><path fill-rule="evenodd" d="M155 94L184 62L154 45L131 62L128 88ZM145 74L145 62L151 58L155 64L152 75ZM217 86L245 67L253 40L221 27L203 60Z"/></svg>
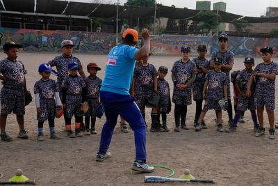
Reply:
<svg viewBox="0 0 278 186"><path fill-rule="evenodd" d="M66 0L65 0L66 1ZM79 2L96 2L101 1L103 3L116 3L117 0L70 0ZM277 0L222 0L227 3L227 12L234 13L238 15L260 17L265 15L266 8L268 6L278 7ZM162 3L165 6L176 6L177 8L196 8L196 1L193 0L156 0L158 3ZM211 9L213 8L213 3L219 1L211 1ZM120 0L120 4L123 5L126 0Z"/></svg>

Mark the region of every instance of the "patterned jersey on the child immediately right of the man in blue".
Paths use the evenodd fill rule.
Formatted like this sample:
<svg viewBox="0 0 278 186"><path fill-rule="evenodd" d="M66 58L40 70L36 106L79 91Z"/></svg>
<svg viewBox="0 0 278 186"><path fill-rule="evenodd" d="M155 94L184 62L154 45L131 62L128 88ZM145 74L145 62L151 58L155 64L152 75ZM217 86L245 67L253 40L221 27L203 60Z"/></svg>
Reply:
<svg viewBox="0 0 278 186"><path fill-rule="evenodd" d="M151 96L154 91L154 77L156 68L152 64L147 66L138 65L134 68L133 77L136 78L136 97Z"/></svg>

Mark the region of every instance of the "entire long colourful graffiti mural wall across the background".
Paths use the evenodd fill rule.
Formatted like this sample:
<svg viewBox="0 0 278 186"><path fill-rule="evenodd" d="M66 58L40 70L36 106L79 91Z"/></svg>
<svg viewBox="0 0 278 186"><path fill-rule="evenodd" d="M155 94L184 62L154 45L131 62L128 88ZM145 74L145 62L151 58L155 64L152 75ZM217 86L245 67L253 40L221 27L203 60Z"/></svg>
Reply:
<svg viewBox="0 0 278 186"><path fill-rule="evenodd" d="M27 29L9 29L0 27L0 45L13 40L29 52L60 52L60 42L70 39L74 42L74 52L107 54L115 45L115 33L93 33L79 31L40 31ZM120 34L118 40L120 41ZM198 36L152 36L152 53L157 55L179 55L181 45L189 45L193 56L197 55L197 45L205 44L208 54L218 50L217 37ZM263 46L273 47L278 57L277 38L229 37L229 49L236 56L259 56ZM0 47L1 49L1 47Z"/></svg>

